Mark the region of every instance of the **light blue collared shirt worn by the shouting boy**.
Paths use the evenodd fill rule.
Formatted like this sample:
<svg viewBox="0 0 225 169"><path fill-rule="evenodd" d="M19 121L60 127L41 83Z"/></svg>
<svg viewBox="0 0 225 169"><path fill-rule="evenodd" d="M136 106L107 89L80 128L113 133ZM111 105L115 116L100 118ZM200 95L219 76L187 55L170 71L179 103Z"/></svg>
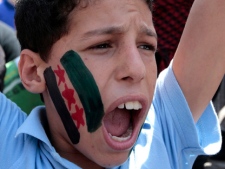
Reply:
<svg viewBox="0 0 225 169"><path fill-rule="evenodd" d="M0 168L79 167L60 157L43 126L45 108L26 118L0 94ZM130 158L114 169L191 169L199 154L214 154L221 146L220 127L210 103L194 123L171 65L157 80L153 103Z"/></svg>

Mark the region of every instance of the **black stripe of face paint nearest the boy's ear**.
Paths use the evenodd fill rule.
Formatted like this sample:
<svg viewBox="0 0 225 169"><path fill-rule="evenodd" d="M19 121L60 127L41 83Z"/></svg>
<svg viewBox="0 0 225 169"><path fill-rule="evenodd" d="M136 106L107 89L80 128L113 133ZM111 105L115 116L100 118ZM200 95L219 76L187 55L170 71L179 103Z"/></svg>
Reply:
<svg viewBox="0 0 225 169"><path fill-rule="evenodd" d="M62 123L66 129L66 132L73 144L78 144L80 141L80 133L70 116L70 113L65 105L65 102L61 96L59 88L57 86L56 77L51 69L47 68L44 71L44 77L46 81L47 88L49 90L51 99L55 105L55 108L62 120Z"/></svg>

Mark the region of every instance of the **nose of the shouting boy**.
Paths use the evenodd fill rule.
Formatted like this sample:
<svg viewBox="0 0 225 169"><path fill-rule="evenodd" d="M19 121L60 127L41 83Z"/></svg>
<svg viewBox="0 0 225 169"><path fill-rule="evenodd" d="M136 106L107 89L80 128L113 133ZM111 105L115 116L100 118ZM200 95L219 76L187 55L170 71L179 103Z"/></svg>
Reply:
<svg viewBox="0 0 225 169"><path fill-rule="evenodd" d="M119 50L117 80L136 83L146 75L146 67L136 45L129 45Z"/></svg>

